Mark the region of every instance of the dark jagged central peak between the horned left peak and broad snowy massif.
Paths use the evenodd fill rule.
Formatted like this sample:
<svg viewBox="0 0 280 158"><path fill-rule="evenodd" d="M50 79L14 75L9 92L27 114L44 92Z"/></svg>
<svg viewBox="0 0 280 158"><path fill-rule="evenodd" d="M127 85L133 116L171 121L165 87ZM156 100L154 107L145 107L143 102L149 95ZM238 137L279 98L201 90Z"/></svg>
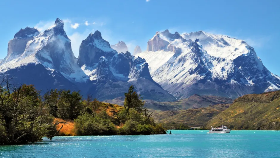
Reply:
<svg viewBox="0 0 280 158"><path fill-rule="evenodd" d="M117 45L122 44L121 41ZM145 59L135 58L128 51L118 53L111 47L99 31L82 41L77 64L93 72L88 93L100 100L113 99L123 96L133 84L143 98L175 100L152 79Z"/></svg>

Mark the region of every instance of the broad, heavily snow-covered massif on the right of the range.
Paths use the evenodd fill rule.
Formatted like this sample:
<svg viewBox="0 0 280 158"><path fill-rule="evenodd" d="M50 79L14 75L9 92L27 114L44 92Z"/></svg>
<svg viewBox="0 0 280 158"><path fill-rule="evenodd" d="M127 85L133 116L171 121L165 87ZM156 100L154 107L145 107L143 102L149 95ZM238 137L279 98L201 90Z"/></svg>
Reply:
<svg viewBox="0 0 280 158"><path fill-rule="evenodd" d="M153 80L177 98L195 93L236 98L280 89L279 78L243 40L165 30L148 41L147 50L137 55L149 63Z"/></svg>

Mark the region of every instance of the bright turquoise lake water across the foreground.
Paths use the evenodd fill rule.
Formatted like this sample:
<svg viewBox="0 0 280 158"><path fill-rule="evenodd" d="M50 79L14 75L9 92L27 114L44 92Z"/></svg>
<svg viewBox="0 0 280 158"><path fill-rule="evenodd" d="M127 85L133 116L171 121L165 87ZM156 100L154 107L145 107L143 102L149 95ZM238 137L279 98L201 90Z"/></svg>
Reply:
<svg viewBox="0 0 280 158"><path fill-rule="evenodd" d="M59 136L0 146L0 157L280 157L280 131L171 130L137 136Z"/></svg>

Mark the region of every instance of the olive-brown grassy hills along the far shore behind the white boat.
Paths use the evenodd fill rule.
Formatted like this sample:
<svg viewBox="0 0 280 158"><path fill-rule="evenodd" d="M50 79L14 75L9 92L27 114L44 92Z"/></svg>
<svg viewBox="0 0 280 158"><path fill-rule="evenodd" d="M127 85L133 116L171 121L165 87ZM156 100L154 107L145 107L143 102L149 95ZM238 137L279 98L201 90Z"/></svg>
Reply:
<svg viewBox="0 0 280 158"><path fill-rule="evenodd" d="M280 130L280 91L244 95L232 104L155 111L153 117L156 123L173 128L184 125L209 129L224 124L233 130Z"/></svg>

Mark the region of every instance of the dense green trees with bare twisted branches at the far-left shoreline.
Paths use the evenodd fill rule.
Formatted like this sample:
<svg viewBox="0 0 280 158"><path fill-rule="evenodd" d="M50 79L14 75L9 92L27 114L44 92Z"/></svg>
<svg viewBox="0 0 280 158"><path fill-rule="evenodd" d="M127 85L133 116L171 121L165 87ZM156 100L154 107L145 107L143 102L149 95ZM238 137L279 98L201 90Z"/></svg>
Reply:
<svg viewBox="0 0 280 158"><path fill-rule="evenodd" d="M1 87L5 88L0 89L0 143L40 141L53 121L46 106L48 100L33 85L11 84L8 77Z"/></svg>

